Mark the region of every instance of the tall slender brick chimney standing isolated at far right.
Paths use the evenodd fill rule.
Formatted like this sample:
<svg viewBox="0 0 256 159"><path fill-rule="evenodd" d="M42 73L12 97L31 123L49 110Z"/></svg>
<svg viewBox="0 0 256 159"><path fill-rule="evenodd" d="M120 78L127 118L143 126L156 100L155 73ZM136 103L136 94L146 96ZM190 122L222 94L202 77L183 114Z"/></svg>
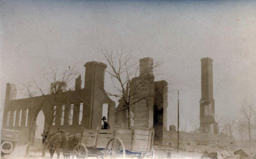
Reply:
<svg viewBox="0 0 256 159"><path fill-rule="evenodd" d="M200 129L207 134L218 133L218 124L214 117L212 62L209 57L201 59Z"/></svg>

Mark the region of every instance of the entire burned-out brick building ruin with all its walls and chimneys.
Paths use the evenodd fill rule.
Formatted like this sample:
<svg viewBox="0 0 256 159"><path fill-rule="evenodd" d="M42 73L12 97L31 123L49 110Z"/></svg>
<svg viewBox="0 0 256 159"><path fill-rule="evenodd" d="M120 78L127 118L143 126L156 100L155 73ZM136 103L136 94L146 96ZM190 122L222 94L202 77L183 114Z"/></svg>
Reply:
<svg viewBox="0 0 256 159"><path fill-rule="evenodd" d="M201 133L181 132L179 137L183 144L234 141L234 138L230 136L218 135L218 124L214 119L212 62L211 58L202 58L201 60L202 97L199 109ZM155 145L175 145L177 144L177 132L173 131L175 126L171 126L171 131L167 130L167 82L164 80L154 81L153 69L150 69L152 64L153 58L150 57L139 60L139 76L131 80L130 89L135 89L136 83L145 79L144 73L146 72L148 75L143 89L132 100L141 96L148 98L131 105L130 126L131 128L154 129ZM43 110L45 115L44 129L46 131L49 130L49 127L52 130L61 127L70 133L79 133L83 127L96 129L101 126L103 104L108 104L107 118L110 128L127 128L124 101L119 99L116 108L115 102L104 91L106 67L107 65L101 62L87 62L85 64L84 88L81 88L79 76L75 80L75 90L60 93L57 96L59 100L55 103L51 103L49 100L56 98L53 95L15 99L15 86L7 84L3 128L20 130L21 142L33 141L36 118L39 111ZM63 109L68 111L62 111ZM51 122L53 119L55 122Z"/></svg>

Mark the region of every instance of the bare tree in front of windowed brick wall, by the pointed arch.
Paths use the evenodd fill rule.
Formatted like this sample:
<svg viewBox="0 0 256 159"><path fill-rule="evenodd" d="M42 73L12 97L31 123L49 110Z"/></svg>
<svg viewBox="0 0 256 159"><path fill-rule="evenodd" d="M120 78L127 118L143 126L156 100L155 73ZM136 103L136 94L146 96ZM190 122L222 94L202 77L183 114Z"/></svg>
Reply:
<svg viewBox="0 0 256 159"><path fill-rule="evenodd" d="M66 105L65 110L61 110L60 112L56 112L56 105L57 104L66 104L66 99L68 99L71 96L71 91L74 90L74 86L70 84L70 81L72 81L77 76L77 70L75 68L73 69L66 69L63 72L60 72L58 69L51 69L50 72L44 73L43 77L39 80L33 79L33 84L22 84L22 86L25 89L25 94L29 98L29 105L30 105L30 113L32 113L32 108L34 106L42 106L45 102L48 102L51 105L51 110L48 110L49 112L46 112L46 114L52 114L51 120L45 120L48 124L48 130L51 126L54 125L56 121L56 115L59 115L62 113L62 111L69 110L72 105ZM42 81L43 80L43 81ZM40 83L46 83L48 84L48 89L44 89L44 86L41 86ZM68 90L67 90L68 89ZM37 93L36 93L37 92ZM34 102L35 94L40 94L43 98L41 101ZM36 105L35 105L36 104ZM33 106L33 107L32 107ZM45 110L46 111L46 110ZM59 113L59 114L57 114ZM33 122L31 119L32 115L30 115L29 119L29 127L30 127L30 137L31 133L34 133L32 130L34 129L34 126L32 125Z"/></svg>

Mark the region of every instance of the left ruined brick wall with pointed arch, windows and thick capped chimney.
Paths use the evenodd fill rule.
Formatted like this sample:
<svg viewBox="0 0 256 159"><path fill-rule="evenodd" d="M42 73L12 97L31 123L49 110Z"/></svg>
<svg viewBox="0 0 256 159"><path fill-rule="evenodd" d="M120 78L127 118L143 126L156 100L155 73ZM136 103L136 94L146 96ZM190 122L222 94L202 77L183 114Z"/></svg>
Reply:
<svg viewBox="0 0 256 159"><path fill-rule="evenodd" d="M21 131L20 143L26 143L28 140L33 142L37 115L42 110L45 116L45 131L49 131L49 128L56 131L60 127L71 134L80 133L83 127L89 129L101 127L103 104L108 104L107 117L110 125L113 126L115 102L104 91L104 74L107 65L92 61L84 66L86 68L84 88L81 88L82 81L79 76L75 80L74 91L61 92L59 95L15 99L15 85L7 84L2 127Z"/></svg>

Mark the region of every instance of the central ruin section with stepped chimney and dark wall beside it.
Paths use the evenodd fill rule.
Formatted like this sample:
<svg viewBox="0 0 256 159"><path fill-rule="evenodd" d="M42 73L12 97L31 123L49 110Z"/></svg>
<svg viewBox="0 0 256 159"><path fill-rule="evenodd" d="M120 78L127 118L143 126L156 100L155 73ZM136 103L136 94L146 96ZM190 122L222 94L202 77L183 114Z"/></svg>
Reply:
<svg viewBox="0 0 256 159"><path fill-rule="evenodd" d="M131 128L153 129L155 130L155 142L162 141L162 133L167 129L167 82L164 80L154 81L153 58L147 57L139 60L139 76L133 78L130 89L139 87L136 83L143 82L143 88L136 92L136 97L132 101L137 101L139 97L147 97L131 105ZM146 76L146 77L145 77ZM125 113L125 103L122 99L116 111L116 127L127 128Z"/></svg>

